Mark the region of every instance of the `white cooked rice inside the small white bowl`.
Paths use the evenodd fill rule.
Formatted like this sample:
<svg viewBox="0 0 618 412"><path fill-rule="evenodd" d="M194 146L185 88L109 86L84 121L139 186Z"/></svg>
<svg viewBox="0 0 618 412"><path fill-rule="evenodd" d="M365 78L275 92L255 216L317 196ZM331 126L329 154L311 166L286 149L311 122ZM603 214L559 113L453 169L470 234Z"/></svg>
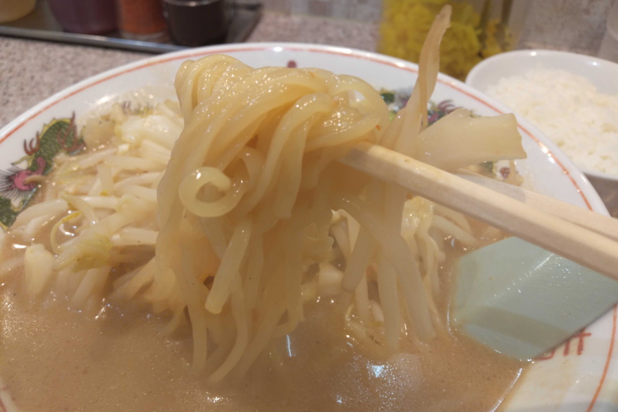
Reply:
<svg viewBox="0 0 618 412"><path fill-rule="evenodd" d="M526 117L582 169L618 175L618 95L586 78L533 69L502 78L488 94Z"/></svg>

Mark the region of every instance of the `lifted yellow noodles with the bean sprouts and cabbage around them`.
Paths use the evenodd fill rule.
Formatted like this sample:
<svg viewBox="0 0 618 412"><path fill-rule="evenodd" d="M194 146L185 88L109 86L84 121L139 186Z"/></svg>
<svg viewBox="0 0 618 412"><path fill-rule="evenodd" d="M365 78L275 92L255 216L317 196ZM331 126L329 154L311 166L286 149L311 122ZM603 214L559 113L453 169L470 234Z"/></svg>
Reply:
<svg viewBox="0 0 618 412"><path fill-rule="evenodd" d="M448 13L392 122L352 76L220 55L185 62L180 107L115 106L93 126L114 129L108 148L61 159L56 185L11 233L25 244L49 225L49 239L0 270L23 266L33 300L49 290L74 308L137 299L168 312L170 332L190 321L192 369L210 382L242 376L319 296L347 305L345 332L374 356L430 340L445 326L434 303L444 238L474 247L468 220L336 159L361 141L446 169L525 156L510 115L459 109L425 130ZM461 150L464 135L474 139Z"/></svg>

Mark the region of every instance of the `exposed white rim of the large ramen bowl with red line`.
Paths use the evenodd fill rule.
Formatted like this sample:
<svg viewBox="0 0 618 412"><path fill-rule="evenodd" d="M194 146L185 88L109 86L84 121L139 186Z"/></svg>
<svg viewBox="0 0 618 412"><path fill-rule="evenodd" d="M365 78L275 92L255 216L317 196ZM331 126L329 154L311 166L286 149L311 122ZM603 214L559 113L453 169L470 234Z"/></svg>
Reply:
<svg viewBox="0 0 618 412"><path fill-rule="evenodd" d="M58 119L74 116L79 126L80 117L100 111L112 102L131 100L135 95L145 96L142 98L146 103L174 98L172 83L181 63L215 53L229 54L253 67L319 67L358 76L376 89L389 91L411 89L418 73L416 65L396 58L341 47L293 43L220 45L148 58L84 80L5 126L0 130L0 170L20 168L21 159L34 150L31 143L37 133ZM442 75L431 100L436 104L466 107L478 115L508 112L505 106L479 91ZM518 161L517 166L528 187L606 213L590 183L551 141L525 119L518 119L518 127L527 159ZM19 205L12 205L12 210L19 213ZM613 350L616 329L617 309L613 308L564 345L540 356L518 380L503 410L615 411L618 408L615 387L618 362ZM19 411L10 393L11 382L4 381L0 385L3 407L9 412Z"/></svg>

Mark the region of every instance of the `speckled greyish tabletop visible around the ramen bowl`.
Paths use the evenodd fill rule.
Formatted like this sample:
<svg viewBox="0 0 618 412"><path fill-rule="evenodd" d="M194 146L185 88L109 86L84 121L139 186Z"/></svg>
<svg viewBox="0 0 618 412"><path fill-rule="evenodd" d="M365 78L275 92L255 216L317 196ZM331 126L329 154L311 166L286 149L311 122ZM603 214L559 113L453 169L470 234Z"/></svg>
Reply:
<svg viewBox="0 0 618 412"><path fill-rule="evenodd" d="M375 51L378 24L264 12L248 42L286 41ZM152 54L0 36L0 127L50 95L107 69ZM594 181L618 217L613 183Z"/></svg>

